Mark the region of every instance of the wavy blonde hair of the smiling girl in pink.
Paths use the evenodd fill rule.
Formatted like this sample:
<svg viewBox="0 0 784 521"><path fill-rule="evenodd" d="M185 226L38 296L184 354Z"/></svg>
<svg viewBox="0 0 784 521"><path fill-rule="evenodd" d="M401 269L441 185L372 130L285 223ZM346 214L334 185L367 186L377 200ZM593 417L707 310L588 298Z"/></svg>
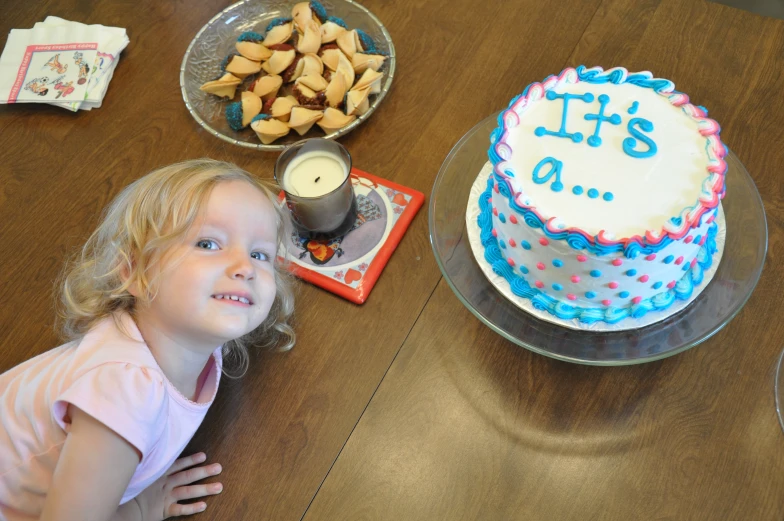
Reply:
<svg viewBox="0 0 784 521"><path fill-rule="evenodd" d="M277 204L273 185L236 165L196 159L169 165L126 187L105 210L103 219L81 252L63 271L59 318L69 339L84 336L98 321L124 311L134 315L136 285L143 299L155 297L150 268L163 253L183 240L212 188L223 181L241 180L265 194L277 215L278 248L291 236L288 212ZM291 278L275 260L275 300L264 322L242 338L223 346L225 358L236 359L239 375L248 367L248 346L294 346L288 319L294 311Z"/></svg>

